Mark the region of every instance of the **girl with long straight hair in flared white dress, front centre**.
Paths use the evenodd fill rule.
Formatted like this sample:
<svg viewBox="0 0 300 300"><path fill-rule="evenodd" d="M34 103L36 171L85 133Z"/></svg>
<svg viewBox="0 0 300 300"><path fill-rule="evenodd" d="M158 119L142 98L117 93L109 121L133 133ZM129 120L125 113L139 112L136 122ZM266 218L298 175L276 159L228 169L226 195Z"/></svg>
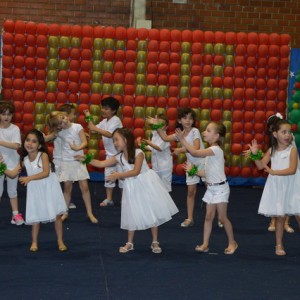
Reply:
<svg viewBox="0 0 300 300"><path fill-rule="evenodd" d="M124 179L121 209L121 228L128 230L127 243L120 247L120 253L134 250L135 230L151 228L153 253L161 253L158 242L158 226L171 220L178 212L161 179L151 170L142 150L135 149L134 137L127 128L118 128L113 133L114 145L119 152L105 161L93 159L90 163L97 168L115 164L122 166L123 172L110 174L107 180ZM77 156L83 161L83 156Z"/></svg>

